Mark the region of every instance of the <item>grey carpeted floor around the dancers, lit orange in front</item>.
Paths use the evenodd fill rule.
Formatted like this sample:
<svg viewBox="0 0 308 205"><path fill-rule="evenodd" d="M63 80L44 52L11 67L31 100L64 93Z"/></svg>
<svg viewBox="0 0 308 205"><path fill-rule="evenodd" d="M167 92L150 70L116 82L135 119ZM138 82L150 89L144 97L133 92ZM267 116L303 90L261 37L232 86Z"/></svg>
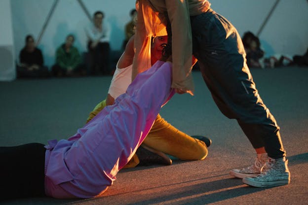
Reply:
<svg viewBox="0 0 308 205"><path fill-rule="evenodd" d="M235 120L223 116L198 71L195 95L176 95L160 114L190 135L212 138L203 161L122 170L96 199L30 198L1 205L305 205L308 204L308 68L251 69L261 98L275 116L287 150L291 183L252 188L229 170L249 166L255 153ZM0 146L67 138L106 97L111 76L0 82ZM5 165L0 165L5 166ZM1 170L1 169L0 169ZM22 171L22 168L21 170ZM18 184L16 184L18 186Z"/></svg>

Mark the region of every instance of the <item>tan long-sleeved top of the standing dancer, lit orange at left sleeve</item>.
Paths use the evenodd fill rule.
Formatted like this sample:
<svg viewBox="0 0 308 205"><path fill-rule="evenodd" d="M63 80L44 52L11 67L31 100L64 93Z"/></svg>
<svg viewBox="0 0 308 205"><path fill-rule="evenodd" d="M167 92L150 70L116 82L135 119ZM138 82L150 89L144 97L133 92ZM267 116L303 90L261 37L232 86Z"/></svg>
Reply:
<svg viewBox="0 0 308 205"><path fill-rule="evenodd" d="M172 87L193 95L192 32L190 16L209 9L207 0L137 0L133 77L151 67L151 37L166 35L168 14L172 29Z"/></svg>

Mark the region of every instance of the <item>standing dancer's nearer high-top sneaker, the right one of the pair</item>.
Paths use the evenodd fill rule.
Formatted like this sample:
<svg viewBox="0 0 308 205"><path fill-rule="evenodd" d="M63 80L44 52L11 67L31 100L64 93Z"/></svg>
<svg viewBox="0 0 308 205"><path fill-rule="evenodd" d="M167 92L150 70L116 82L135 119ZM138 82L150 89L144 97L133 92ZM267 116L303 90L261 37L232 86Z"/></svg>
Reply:
<svg viewBox="0 0 308 205"><path fill-rule="evenodd" d="M243 178L243 183L254 187L282 186L290 183L290 171L288 160L283 158L269 158L268 170L256 177Z"/></svg>

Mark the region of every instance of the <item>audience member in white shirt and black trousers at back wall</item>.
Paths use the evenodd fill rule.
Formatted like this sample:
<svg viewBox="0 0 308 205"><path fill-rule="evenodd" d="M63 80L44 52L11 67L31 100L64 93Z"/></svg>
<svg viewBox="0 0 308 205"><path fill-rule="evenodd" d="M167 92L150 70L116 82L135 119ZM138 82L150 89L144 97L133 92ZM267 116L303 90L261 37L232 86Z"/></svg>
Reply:
<svg viewBox="0 0 308 205"><path fill-rule="evenodd" d="M110 27L104 21L104 13L96 11L93 23L85 28L88 37L89 58L87 66L90 74L109 74L110 65Z"/></svg>

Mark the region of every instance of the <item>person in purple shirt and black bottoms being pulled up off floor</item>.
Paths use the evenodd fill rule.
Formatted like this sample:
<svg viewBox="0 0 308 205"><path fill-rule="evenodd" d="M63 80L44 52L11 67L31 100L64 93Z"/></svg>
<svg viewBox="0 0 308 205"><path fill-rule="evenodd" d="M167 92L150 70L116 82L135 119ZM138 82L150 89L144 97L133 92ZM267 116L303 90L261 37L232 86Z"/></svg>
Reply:
<svg viewBox="0 0 308 205"><path fill-rule="evenodd" d="M0 147L0 199L91 198L106 191L172 97L171 67L157 61L69 139Z"/></svg>

